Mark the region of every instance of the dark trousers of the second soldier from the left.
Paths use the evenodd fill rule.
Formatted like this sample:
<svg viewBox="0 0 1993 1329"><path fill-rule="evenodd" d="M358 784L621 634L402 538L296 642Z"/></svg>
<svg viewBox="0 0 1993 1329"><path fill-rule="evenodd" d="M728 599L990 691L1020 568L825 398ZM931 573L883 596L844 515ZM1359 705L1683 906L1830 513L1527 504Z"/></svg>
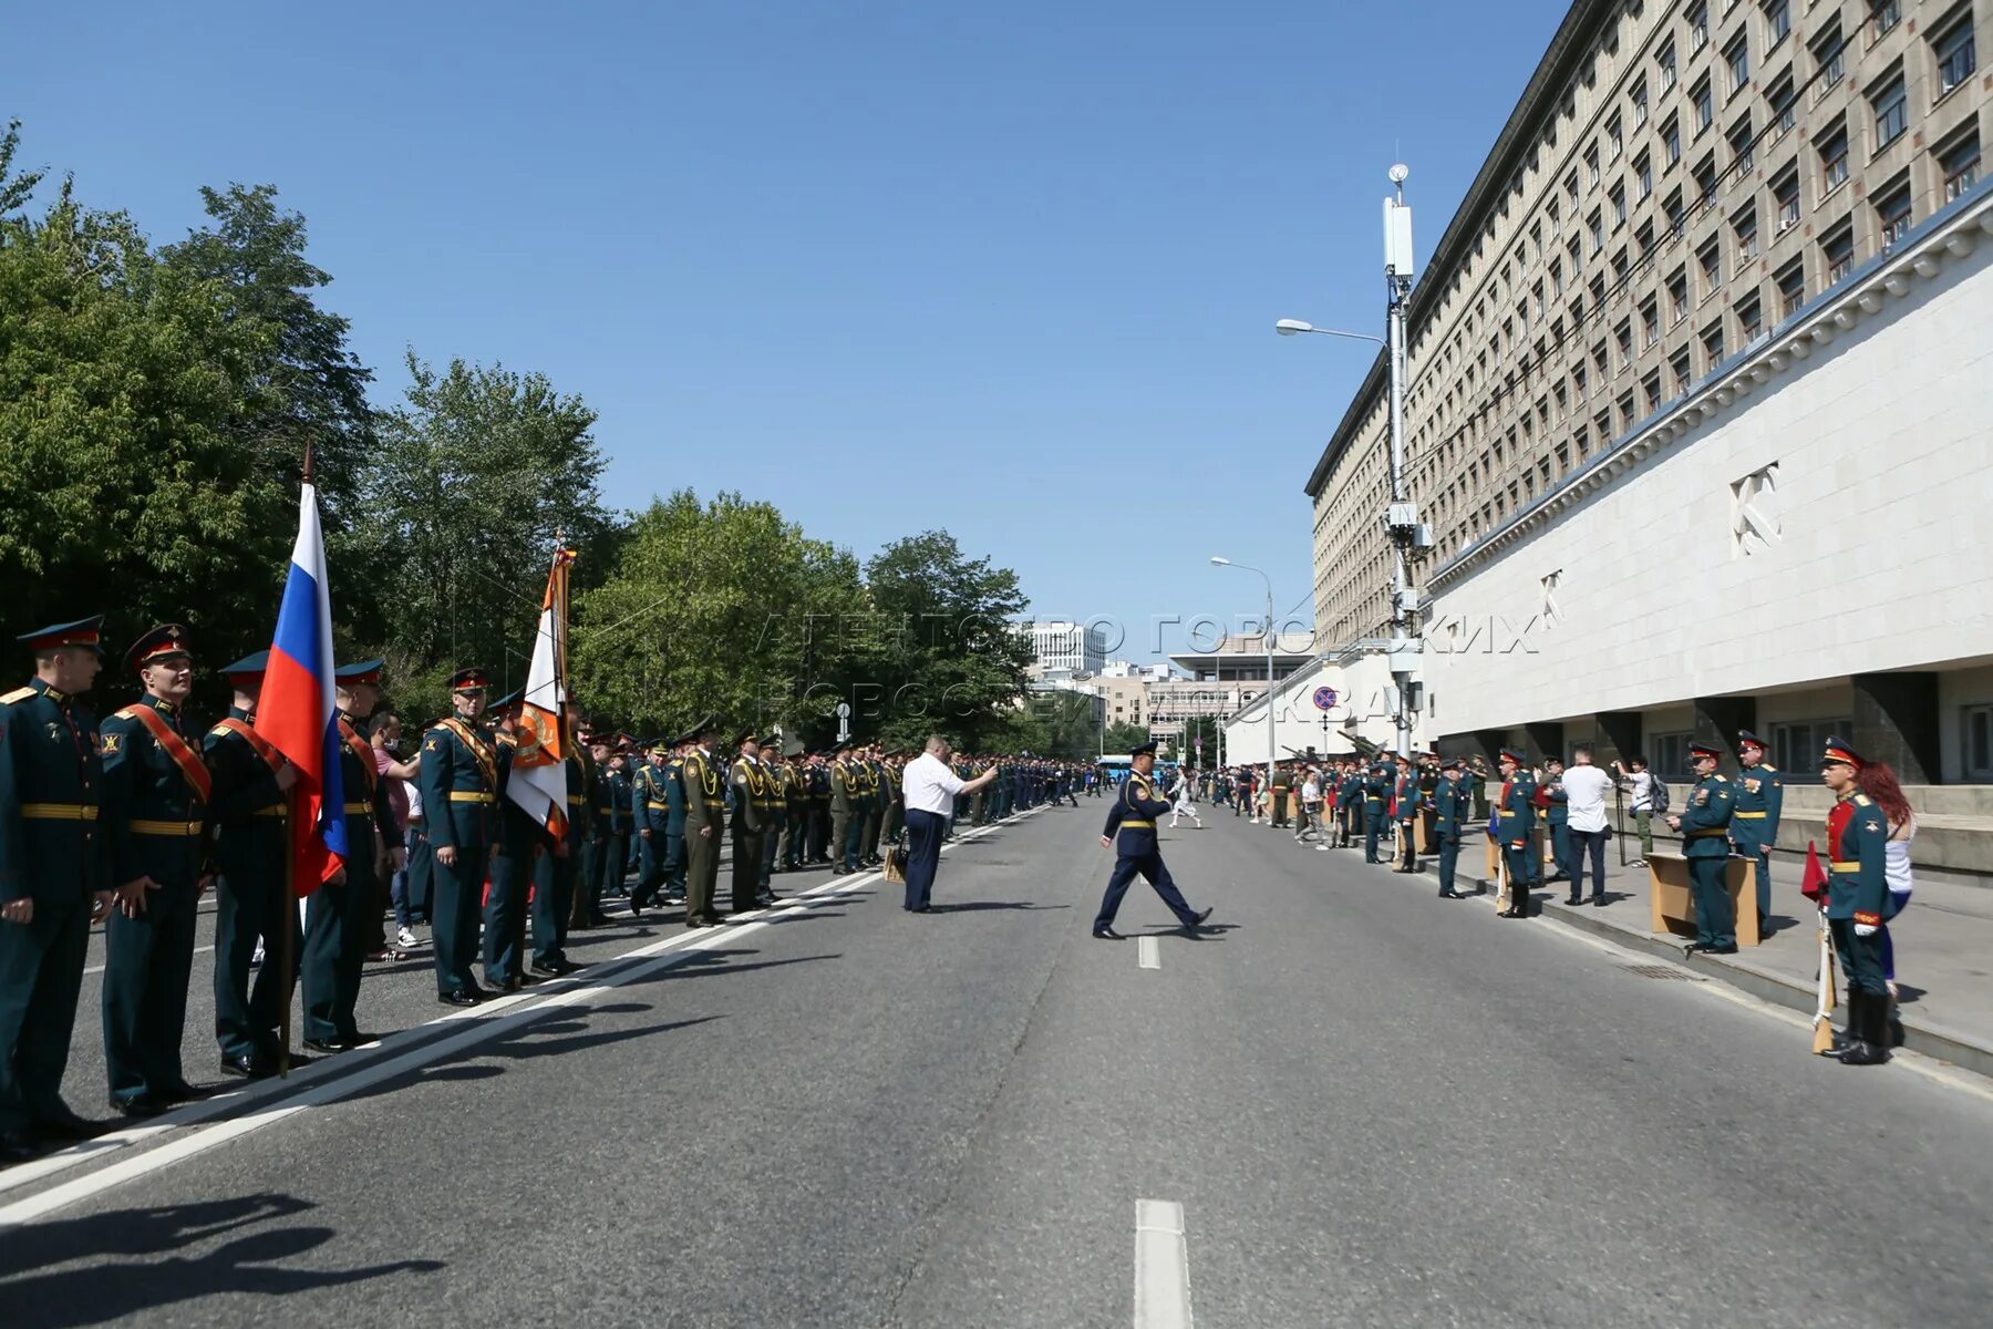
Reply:
<svg viewBox="0 0 1993 1329"><path fill-rule="evenodd" d="M179 1038L187 1028L197 905L191 881L167 883L145 893L138 919L112 911L104 929L104 1066L112 1098L185 1084Z"/></svg>

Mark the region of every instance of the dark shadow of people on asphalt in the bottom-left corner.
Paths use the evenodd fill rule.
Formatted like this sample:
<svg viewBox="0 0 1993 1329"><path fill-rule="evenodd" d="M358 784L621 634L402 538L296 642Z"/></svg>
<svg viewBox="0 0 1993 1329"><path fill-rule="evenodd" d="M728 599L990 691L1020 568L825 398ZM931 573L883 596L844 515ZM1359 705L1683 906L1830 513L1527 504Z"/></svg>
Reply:
<svg viewBox="0 0 1993 1329"><path fill-rule="evenodd" d="M217 1293L275 1297L442 1269L436 1259L357 1269L283 1267L281 1261L317 1251L339 1235L331 1227L289 1225L313 1207L295 1196L263 1194L14 1227L0 1241L6 1323L18 1329L102 1325ZM287 1225L251 1231L261 1223ZM181 1253L231 1233L239 1235L215 1249ZM88 1265L58 1267L70 1261Z"/></svg>

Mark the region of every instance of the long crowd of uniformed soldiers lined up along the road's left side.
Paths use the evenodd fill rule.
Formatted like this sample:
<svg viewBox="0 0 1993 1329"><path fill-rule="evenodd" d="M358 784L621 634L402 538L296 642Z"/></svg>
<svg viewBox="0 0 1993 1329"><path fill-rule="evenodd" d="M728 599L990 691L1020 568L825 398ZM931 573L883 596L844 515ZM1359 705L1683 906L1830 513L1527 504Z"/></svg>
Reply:
<svg viewBox="0 0 1993 1329"><path fill-rule="evenodd" d="M570 707L568 807L550 831L508 797L538 745L518 693L488 699L486 673L460 669L452 713L409 735L381 709L383 662L361 660L335 669L343 865L301 889L299 775L255 727L269 652L219 669L233 705L203 725L187 707L191 634L161 624L124 656L136 695L100 721L86 703L104 667L100 626L26 634L34 677L0 695L0 1164L110 1126L62 1098L98 923L108 1106L151 1118L207 1092L189 1084L181 1042L209 893L219 1068L261 1080L373 1042L357 1024L365 966L411 958L417 927L436 1000L474 1006L580 968L568 936L610 923L610 901L624 901L624 921L682 905L684 927L717 927L771 905L779 873L881 867L907 827L913 753L853 739L781 751L753 729L721 745L713 719L638 741ZM1028 753L951 761L963 789L929 823L939 839L1042 803L1076 807L1106 783L1092 763ZM715 899L723 843L727 911ZM293 992L305 1052L283 1032Z"/></svg>

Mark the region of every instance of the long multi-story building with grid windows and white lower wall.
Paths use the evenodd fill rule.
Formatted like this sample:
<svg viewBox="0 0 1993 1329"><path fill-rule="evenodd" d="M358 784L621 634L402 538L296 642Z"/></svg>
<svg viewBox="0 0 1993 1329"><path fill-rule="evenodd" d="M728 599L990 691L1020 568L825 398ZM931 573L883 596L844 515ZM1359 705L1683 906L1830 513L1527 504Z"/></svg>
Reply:
<svg viewBox="0 0 1993 1329"><path fill-rule="evenodd" d="M1423 733L1993 781L1989 20L1572 4L1407 313ZM1389 618L1385 379L1307 482L1325 642Z"/></svg>

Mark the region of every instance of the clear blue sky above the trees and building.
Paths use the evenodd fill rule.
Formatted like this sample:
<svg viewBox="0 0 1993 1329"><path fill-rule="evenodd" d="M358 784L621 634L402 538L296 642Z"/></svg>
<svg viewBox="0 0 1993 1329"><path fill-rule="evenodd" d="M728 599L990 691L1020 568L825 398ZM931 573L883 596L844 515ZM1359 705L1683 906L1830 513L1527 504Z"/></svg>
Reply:
<svg viewBox="0 0 1993 1329"><path fill-rule="evenodd" d="M10 6L0 118L159 241L275 183L325 303L546 373L608 496L737 488L871 554L945 526L1044 616L1305 618L1301 484L1565 6ZM1162 646L1178 648L1176 630Z"/></svg>

